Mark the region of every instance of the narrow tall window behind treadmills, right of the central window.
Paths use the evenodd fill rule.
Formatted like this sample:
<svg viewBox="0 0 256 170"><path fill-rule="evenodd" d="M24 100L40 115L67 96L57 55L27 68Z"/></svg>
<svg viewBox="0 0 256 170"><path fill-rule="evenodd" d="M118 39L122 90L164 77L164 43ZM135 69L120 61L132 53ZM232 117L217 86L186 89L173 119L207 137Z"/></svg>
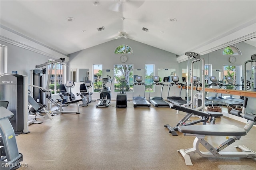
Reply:
<svg viewBox="0 0 256 170"><path fill-rule="evenodd" d="M145 84L146 84L146 92L154 92L154 85L151 86L150 84L154 83L153 76L154 76L154 64L145 64Z"/></svg>

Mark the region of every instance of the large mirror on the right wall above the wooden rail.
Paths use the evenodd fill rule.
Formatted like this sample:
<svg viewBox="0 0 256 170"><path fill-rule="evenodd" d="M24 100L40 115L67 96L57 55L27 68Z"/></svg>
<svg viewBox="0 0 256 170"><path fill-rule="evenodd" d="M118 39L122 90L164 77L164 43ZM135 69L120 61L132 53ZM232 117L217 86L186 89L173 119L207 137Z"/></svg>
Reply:
<svg viewBox="0 0 256 170"><path fill-rule="evenodd" d="M201 57L205 59L205 83L211 83L209 77L214 76L218 82L229 84L227 89L256 91L254 83L256 81L256 61L251 59L251 55L255 53L256 38L252 38L202 55ZM245 66L246 61L249 62ZM179 63L179 68L180 75L186 77L187 61ZM244 76L245 73L246 76ZM232 82L226 77L231 77ZM216 86L210 86L210 88L216 88Z"/></svg>

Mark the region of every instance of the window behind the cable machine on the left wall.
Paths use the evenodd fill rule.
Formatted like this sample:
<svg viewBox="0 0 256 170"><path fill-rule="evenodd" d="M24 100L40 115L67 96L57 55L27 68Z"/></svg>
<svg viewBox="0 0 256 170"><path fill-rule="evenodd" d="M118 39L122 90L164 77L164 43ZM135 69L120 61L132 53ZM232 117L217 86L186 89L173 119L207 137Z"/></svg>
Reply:
<svg viewBox="0 0 256 170"><path fill-rule="evenodd" d="M49 59L49 62L53 60ZM61 63L54 63L53 64L53 69L50 72L52 64L48 65L48 75L50 76L50 84L49 84L49 89L52 89L52 94L57 94L60 93L59 90L59 85L60 84L65 84L64 83L64 66Z"/></svg>

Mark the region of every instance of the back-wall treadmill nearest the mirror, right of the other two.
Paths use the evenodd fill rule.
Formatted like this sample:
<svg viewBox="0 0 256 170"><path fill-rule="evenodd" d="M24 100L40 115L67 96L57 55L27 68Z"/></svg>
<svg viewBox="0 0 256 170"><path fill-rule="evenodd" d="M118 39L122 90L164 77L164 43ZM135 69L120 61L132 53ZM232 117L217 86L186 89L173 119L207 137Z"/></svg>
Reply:
<svg viewBox="0 0 256 170"><path fill-rule="evenodd" d="M172 81L174 83L170 83L169 84L167 100L170 101L171 103L175 104L175 105L186 105L187 101L180 97L181 96L182 87L184 86L184 84L178 83L178 81L179 81L179 77L178 76L172 76ZM179 96L169 96L170 87L173 86L174 84L175 85L180 85L180 95Z"/></svg>

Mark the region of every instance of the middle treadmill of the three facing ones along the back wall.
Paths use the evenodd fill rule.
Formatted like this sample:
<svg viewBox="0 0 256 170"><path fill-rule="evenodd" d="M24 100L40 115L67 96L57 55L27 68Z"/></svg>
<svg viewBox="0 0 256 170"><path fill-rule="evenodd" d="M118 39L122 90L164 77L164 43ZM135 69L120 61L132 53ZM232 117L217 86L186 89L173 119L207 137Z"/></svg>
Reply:
<svg viewBox="0 0 256 170"><path fill-rule="evenodd" d="M162 98L162 93L163 93L163 87L166 85L164 83L159 83L160 78L159 76L153 76L153 81L154 83L150 84L150 89L151 85L162 85L161 88L161 97L150 97L150 91L149 91L149 101L154 105L154 107L170 107L169 103L164 101Z"/></svg>

